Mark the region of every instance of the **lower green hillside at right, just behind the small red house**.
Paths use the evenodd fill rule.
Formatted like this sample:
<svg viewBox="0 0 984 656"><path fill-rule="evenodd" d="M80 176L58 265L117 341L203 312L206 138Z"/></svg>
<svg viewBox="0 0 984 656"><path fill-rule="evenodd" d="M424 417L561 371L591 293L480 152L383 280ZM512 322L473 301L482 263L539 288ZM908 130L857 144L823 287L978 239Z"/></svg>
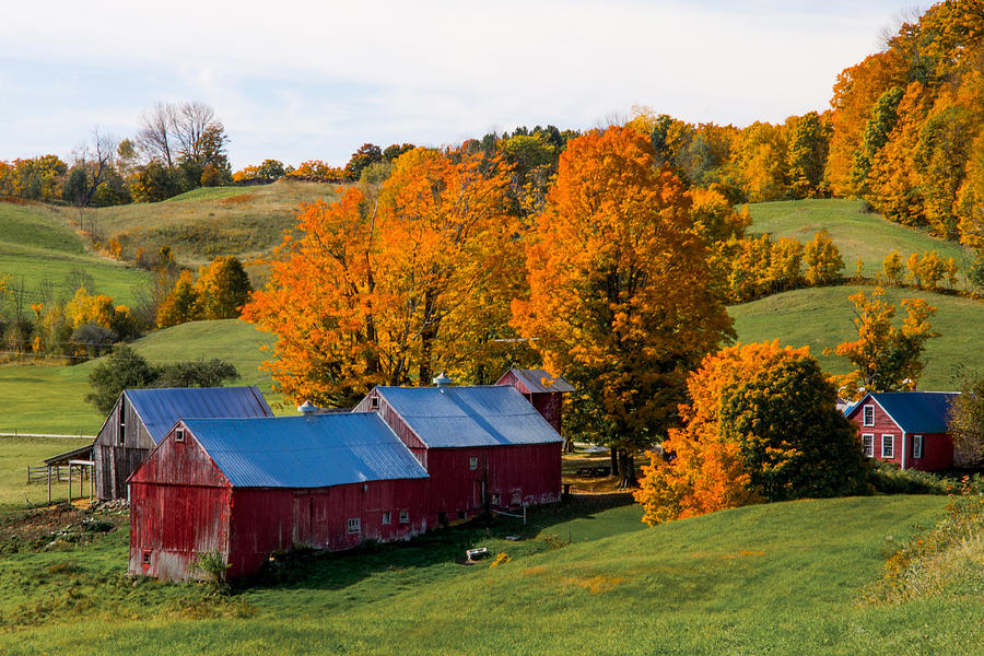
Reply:
<svg viewBox="0 0 984 656"><path fill-rule="evenodd" d="M857 337L852 324L853 305L847 296L862 289L874 290L855 285L795 290L734 305L728 314L735 319L742 342L778 339L782 344L809 345L825 370L843 374L850 371L848 363L823 355L823 349ZM980 326L984 325L984 303L916 290L886 290L886 298L897 306L902 298L910 297L925 298L937 308L932 324L940 333L927 342L926 368L919 387L951 389L950 378L958 363L984 373L984 350L977 347ZM903 316L904 313L897 315L898 324Z"/></svg>

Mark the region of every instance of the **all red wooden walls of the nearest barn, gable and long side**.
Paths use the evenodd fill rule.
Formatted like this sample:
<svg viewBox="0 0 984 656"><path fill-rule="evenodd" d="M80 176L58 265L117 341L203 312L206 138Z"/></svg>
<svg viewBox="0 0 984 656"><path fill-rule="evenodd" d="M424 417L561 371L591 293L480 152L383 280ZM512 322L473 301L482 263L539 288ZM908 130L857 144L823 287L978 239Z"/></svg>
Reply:
<svg viewBox="0 0 984 656"><path fill-rule="evenodd" d="M255 574L273 552L332 551L389 541L427 528L427 479L368 481L315 489L233 488L190 431L174 431L130 478L131 574L195 578L199 552L218 551L230 578ZM400 522L400 512L408 522ZM383 513L390 523L383 524ZM350 534L348 520L360 518ZM150 562L144 564L144 554Z"/></svg>

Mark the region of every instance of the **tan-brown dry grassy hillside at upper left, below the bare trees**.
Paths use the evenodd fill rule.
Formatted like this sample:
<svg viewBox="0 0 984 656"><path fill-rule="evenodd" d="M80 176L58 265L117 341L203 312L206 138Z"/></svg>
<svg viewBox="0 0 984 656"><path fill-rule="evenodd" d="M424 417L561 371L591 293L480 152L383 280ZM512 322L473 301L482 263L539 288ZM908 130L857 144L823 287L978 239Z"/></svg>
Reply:
<svg viewBox="0 0 984 656"><path fill-rule="evenodd" d="M294 227L302 203L336 198L337 185L280 180L257 187L195 189L164 202L96 210L105 238L115 237L124 254L156 251L163 245L185 265L199 266L220 255L250 259L280 244Z"/></svg>

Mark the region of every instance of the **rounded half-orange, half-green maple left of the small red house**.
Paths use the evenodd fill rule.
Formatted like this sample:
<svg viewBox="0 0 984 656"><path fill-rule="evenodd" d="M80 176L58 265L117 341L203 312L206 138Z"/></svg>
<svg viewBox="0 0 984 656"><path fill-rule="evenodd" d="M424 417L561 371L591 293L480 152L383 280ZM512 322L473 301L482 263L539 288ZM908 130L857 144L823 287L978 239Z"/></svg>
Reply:
<svg viewBox="0 0 984 656"><path fill-rule="evenodd" d="M683 427L649 453L635 500L647 524L760 501L863 489L857 435L808 348L778 341L724 349L687 382Z"/></svg>

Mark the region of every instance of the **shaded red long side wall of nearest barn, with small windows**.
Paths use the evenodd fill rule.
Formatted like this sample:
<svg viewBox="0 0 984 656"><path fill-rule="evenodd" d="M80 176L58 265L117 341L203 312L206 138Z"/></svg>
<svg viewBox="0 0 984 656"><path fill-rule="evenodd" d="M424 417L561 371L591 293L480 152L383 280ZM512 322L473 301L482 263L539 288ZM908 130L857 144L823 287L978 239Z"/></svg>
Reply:
<svg viewBox="0 0 984 656"><path fill-rule="evenodd" d="M400 522L400 512L408 522ZM391 541L427 528L426 479L370 481L312 490L236 488L230 535L230 577L254 574L269 554L311 547L339 551L364 540ZM389 512L390 523L383 524ZM361 530L350 534L350 518Z"/></svg>

